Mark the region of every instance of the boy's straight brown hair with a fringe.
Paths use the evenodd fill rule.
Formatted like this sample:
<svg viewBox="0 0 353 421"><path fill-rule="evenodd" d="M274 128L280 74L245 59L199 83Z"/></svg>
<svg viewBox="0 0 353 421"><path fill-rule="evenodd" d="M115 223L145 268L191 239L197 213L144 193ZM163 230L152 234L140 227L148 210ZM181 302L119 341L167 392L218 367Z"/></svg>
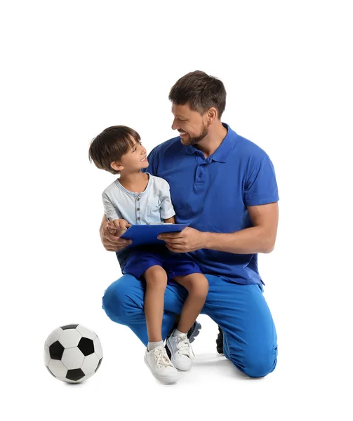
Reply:
<svg viewBox="0 0 353 421"><path fill-rule="evenodd" d="M95 166L101 170L109 171L112 174L119 174L110 163L120 161L135 142L140 142L141 138L137 131L126 126L111 126L96 136L89 148L88 158L94 162Z"/></svg>

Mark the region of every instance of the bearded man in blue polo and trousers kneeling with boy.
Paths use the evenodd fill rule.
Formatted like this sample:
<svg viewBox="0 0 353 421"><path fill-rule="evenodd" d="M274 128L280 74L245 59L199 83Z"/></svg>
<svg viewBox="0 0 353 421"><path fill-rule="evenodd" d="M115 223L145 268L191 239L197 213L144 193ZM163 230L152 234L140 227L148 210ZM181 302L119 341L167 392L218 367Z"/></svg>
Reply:
<svg viewBox="0 0 353 421"><path fill-rule="evenodd" d="M222 81L191 72L171 88L169 100L179 136L152 150L146 171L168 181L175 222L190 225L159 238L169 250L187 253L206 275L209 290L201 313L220 328L218 352L246 375L263 377L277 363L277 333L257 265L258 253L271 252L277 236L279 196L272 162L222 123ZM110 234L105 218L100 234L107 250L119 253L126 247ZM146 344L143 294L140 281L122 276L105 291L103 308ZM185 289L168 284L164 338L184 300ZM197 333L194 326L191 334Z"/></svg>

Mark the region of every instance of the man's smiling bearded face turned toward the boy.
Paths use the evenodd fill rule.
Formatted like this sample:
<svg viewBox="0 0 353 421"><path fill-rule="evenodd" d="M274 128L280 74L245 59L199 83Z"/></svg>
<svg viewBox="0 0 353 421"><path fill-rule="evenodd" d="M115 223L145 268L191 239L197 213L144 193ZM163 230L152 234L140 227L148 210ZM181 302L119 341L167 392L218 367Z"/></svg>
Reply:
<svg viewBox="0 0 353 421"><path fill-rule="evenodd" d="M196 145L208 134L207 113L192 111L188 104L172 105L173 130L178 130L182 145Z"/></svg>

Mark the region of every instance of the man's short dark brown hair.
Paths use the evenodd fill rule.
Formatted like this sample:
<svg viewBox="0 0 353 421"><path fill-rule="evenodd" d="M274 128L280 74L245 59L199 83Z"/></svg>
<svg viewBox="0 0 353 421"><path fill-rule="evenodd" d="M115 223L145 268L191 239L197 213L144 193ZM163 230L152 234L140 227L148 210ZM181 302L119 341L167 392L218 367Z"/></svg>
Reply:
<svg viewBox="0 0 353 421"><path fill-rule="evenodd" d="M189 105L190 109L204 114L211 107L218 111L218 118L225 111L227 93L222 81L196 70L182 76L171 88L169 100L176 105Z"/></svg>

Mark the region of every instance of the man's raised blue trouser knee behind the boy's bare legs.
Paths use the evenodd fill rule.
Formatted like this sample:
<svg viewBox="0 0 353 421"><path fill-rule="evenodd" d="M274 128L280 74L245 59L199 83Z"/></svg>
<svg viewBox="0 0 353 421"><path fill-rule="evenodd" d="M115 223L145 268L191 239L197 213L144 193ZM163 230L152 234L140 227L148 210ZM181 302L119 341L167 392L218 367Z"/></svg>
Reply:
<svg viewBox="0 0 353 421"><path fill-rule="evenodd" d="M147 346L148 336L144 311L145 287L145 281L140 281L132 275L121 276L105 290L102 308L109 319L131 328L133 333ZM178 283L168 283L164 293L163 340L171 331L175 314L180 314L186 297L185 288Z"/></svg>

